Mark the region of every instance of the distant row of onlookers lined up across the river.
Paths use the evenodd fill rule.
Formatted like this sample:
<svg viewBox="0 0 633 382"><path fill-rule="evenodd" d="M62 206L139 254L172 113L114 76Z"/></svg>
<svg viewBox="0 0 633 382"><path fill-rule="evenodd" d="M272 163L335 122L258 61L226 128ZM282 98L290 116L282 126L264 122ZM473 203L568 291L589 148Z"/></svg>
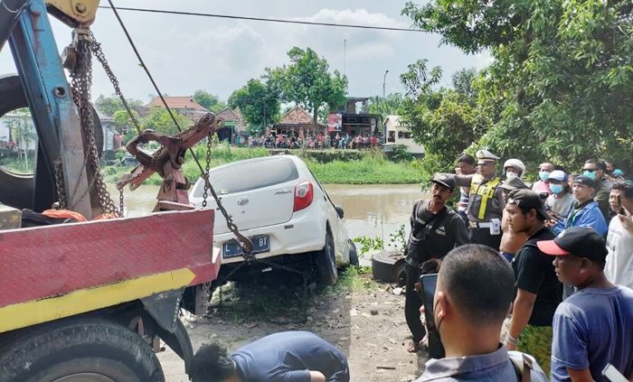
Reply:
<svg viewBox="0 0 633 382"><path fill-rule="evenodd" d="M298 149L307 146L308 149L371 149L380 146L381 138L377 135L348 133L319 133L307 135L305 139L296 135L235 135L233 142L239 147L266 147Z"/></svg>

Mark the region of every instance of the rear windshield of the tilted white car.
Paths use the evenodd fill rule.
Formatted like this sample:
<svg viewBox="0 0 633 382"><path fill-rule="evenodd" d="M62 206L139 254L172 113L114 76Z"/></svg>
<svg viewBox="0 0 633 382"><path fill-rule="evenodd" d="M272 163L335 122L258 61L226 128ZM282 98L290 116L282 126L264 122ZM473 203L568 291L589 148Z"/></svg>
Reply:
<svg viewBox="0 0 633 382"><path fill-rule="evenodd" d="M288 158L238 163L209 172L209 181L218 195L250 191L298 179L297 166ZM202 197L203 182L194 197Z"/></svg>

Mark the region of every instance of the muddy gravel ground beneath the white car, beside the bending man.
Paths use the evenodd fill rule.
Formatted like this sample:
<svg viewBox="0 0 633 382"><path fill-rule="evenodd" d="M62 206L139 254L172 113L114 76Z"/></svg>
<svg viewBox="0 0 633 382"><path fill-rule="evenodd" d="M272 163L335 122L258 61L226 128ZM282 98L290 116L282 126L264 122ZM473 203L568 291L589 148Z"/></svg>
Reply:
<svg viewBox="0 0 633 382"><path fill-rule="evenodd" d="M308 289L304 299L302 279L288 274L223 287L222 301L221 293L214 293L208 316L185 321L194 350L209 341L232 350L277 331L314 331L345 353L352 381L402 382L420 376L427 353L406 350L411 334L404 295L393 293L394 285L376 284L371 274L347 268L335 287L311 284ZM188 381L173 351L166 349L159 359L167 382Z"/></svg>

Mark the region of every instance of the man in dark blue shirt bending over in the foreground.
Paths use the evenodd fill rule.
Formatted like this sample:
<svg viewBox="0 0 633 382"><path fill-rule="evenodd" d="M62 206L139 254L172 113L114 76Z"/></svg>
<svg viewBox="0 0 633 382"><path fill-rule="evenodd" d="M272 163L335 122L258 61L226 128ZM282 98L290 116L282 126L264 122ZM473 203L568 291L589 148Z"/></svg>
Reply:
<svg viewBox="0 0 633 382"><path fill-rule="evenodd" d="M347 359L309 331L282 331L227 354L219 345L195 353L193 382L349 382Z"/></svg>

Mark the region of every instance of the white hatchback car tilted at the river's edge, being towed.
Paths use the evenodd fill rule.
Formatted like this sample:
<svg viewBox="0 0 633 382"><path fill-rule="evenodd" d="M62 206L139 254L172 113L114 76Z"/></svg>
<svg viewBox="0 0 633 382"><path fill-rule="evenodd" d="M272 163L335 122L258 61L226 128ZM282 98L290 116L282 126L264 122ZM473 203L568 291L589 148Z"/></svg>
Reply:
<svg viewBox="0 0 633 382"><path fill-rule="evenodd" d="M356 248L342 220L343 210L335 207L297 156L275 155L224 164L213 168L209 179L241 234L252 239L257 258L285 266L308 266L316 270L322 284L336 283L337 266L358 264ZM189 200L202 206L203 192L201 178L195 182ZM244 258L211 195L207 203L216 209L213 240L215 247L222 248L222 279ZM251 270L260 272L262 268Z"/></svg>

